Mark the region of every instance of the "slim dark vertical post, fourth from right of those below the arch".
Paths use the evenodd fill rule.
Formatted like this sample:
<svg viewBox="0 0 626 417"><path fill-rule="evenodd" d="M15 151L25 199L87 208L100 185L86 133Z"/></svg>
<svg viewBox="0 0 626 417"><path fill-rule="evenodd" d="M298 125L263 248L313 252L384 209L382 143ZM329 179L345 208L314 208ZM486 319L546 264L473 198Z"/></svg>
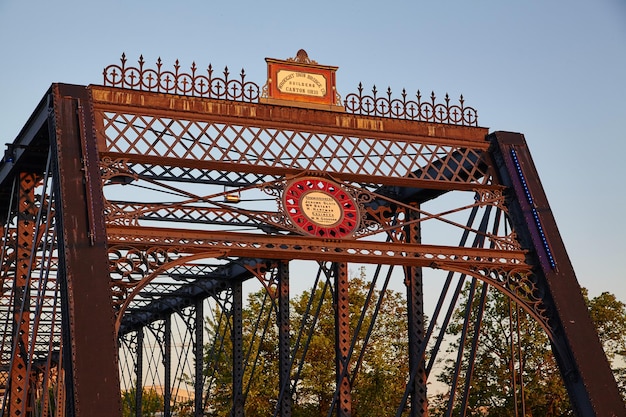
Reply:
<svg viewBox="0 0 626 417"><path fill-rule="evenodd" d="M233 340L233 417L243 417L243 291L242 282L232 284L232 340Z"/></svg>

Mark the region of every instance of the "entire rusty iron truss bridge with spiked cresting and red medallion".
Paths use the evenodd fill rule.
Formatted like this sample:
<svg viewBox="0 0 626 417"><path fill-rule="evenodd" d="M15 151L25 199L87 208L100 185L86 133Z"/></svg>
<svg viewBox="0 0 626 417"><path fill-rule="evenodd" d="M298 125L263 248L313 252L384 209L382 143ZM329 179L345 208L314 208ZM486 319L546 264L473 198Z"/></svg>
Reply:
<svg viewBox="0 0 626 417"><path fill-rule="evenodd" d="M446 329L488 291L545 333L576 415L626 415L521 133L463 97L342 98L304 51L267 67L258 84L123 56L44 93L0 164L1 415L257 415L261 391L274 416L358 415L387 289L389 416L429 415L434 389L467 410L481 314L452 355ZM327 322L323 402L305 387Z"/></svg>

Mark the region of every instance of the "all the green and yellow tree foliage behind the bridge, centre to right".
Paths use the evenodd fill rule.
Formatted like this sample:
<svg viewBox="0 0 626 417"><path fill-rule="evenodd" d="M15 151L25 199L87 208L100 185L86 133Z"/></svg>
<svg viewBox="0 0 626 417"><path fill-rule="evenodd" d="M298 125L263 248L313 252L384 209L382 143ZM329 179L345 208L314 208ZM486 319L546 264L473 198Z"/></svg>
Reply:
<svg viewBox="0 0 626 417"><path fill-rule="evenodd" d="M476 285L476 293L480 294L484 284L477 282ZM349 298L352 335L357 331L368 290L369 283L364 279L351 279ZM469 288L465 288L459 305L465 305L469 294ZM586 292L584 295L620 388L626 393L626 306L609 293L593 299L588 299ZM358 417L394 414L408 375L407 311L402 294L393 291L384 294L376 325L372 327L367 347L361 352L373 320L374 304L379 296L380 292L376 292L363 315L357 338L359 342L351 359L352 370L359 366L352 385L352 414ZM311 298L314 309L318 303L320 306L317 320L306 313ZM480 297L476 295L472 299L470 314L473 318L478 313L479 300ZM269 301L266 291L250 294L243 311L243 391L248 417L273 415L279 397L277 309ZM292 299L290 314L290 349L294 357L292 384L296 375L298 378L297 389L292 396L292 415L325 416L333 404L336 380L335 313L330 290L317 289L313 294L305 292ZM453 381L464 314L464 308L459 307L447 328L451 342L448 355L440 363L443 371L437 377L446 386L450 386ZM550 342L538 322L493 288L489 288L482 314L467 415L573 415ZM218 417L228 416L232 410L232 323L231 317L219 310L215 311L214 317L208 323L209 340L212 342L205 346L206 388L210 398L206 415ZM293 352L300 329L304 336ZM309 330L312 330L311 339L307 343ZM468 363L471 350L471 333L463 351L465 364ZM362 361L358 362L361 353ZM465 365L460 375L466 375L467 370ZM464 386L465 381L461 376L457 381L453 415L460 411L459 399L463 395ZM431 416L444 415L449 395L448 391L429 398Z"/></svg>

